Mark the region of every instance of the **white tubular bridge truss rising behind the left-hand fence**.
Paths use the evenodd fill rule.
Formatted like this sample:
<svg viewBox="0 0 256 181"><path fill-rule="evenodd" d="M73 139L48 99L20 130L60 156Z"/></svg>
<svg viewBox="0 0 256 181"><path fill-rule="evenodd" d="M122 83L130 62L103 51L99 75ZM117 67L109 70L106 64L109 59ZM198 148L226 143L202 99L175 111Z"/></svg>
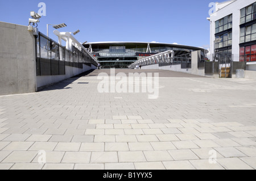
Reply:
<svg viewBox="0 0 256 181"><path fill-rule="evenodd" d="M68 50L72 50L72 47L76 47L77 49L79 49L80 51L84 50L86 53L89 54L90 57L92 57L92 59L98 63L97 59L95 57L93 57L93 55L86 49L84 48L84 46L82 46L79 41L77 41L75 39L75 37L73 37L71 35L70 32L59 32L57 30L53 31L53 33L55 33L56 36L59 37L59 44L61 45L61 40L66 41L66 49ZM61 56L60 56L61 57Z"/></svg>

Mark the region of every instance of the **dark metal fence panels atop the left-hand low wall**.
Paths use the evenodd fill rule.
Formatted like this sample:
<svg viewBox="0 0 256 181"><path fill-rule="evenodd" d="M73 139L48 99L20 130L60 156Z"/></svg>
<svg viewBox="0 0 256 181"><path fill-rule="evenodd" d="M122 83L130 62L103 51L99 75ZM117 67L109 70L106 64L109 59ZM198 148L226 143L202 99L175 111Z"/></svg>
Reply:
<svg viewBox="0 0 256 181"><path fill-rule="evenodd" d="M65 66L82 69L82 64L97 63L85 50L68 50L39 32L36 39L36 75L65 75Z"/></svg>

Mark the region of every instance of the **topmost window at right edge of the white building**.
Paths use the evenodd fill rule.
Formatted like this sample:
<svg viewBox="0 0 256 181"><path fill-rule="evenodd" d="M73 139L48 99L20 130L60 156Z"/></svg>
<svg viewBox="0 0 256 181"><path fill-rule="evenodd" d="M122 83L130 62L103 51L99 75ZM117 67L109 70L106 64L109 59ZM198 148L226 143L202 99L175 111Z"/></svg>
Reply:
<svg viewBox="0 0 256 181"><path fill-rule="evenodd" d="M240 10L240 24L256 19L256 3Z"/></svg>

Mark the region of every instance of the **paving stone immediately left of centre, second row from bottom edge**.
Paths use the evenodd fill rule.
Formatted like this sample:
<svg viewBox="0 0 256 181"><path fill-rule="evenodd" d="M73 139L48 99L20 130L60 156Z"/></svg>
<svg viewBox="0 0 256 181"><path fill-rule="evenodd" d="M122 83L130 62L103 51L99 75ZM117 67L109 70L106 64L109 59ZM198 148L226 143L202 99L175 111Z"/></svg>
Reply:
<svg viewBox="0 0 256 181"><path fill-rule="evenodd" d="M117 163L117 162L118 162L118 157L117 157L116 151L92 152L92 156L90 158L90 163Z"/></svg>

